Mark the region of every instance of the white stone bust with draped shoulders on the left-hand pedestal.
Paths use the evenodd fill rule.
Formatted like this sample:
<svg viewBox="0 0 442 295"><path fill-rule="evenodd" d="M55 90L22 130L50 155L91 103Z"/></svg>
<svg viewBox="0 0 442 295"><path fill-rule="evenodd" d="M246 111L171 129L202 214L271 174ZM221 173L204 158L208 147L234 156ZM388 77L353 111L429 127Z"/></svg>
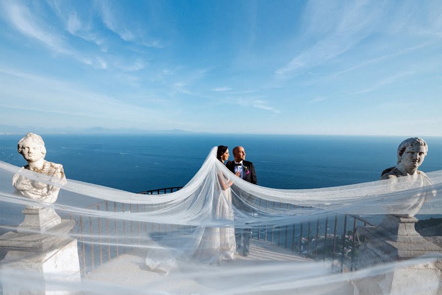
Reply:
<svg viewBox="0 0 442 295"><path fill-rule="evenodd" d="M17 150L28 162L28 165L24 166L23 169L50 176L53 180L66 180L61 164L44 159L46 148L41 136L28 133L18 142ZM23 196L47 203L54 203L59 191L59 188L56 186L31 180L20 173L14 175L12 184Z"/></svg>

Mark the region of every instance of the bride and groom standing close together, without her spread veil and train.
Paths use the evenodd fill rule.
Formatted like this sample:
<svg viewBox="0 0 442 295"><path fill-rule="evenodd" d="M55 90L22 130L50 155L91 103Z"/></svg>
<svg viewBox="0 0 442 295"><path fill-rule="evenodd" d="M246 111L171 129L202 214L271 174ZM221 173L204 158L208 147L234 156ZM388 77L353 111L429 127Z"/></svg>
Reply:
<svg viewBox="0 0 442 295"><path fill-rule="evenodd" d="M257 184L258 180L256 178L255 167L252 162L246 161L246 151L243 147L233 148L233 158L234 161L229 161L229 150L226 146L219 146L217 151L217 158L224 164L226 168L230 170L235 176L248 181L253 184ZM229 179L229 176L224 175L222 172L218 173L218 179L220 182L222 193L218 199L217 204L222 208L221 211L229 212L221 218L228 218L228 220L234 220L233 208L236 208L238 212L250 215L252 213L252 204L254 203L254 197L250 194L241 194L237 191L233 194L231 186L233 182ZM216 209L214 216L218 217L218 212L220 210ZM243 256L249 255L249 245L250 238L252 235L251 228L224 228L220 230L220 241L224 241L220 244L220 249L223 253L229 253L226 255L230 259L234 259L235 250L242 252ZM242 241L242 247L241 247ZM241 251L242 250L242 251Z"/></svg>

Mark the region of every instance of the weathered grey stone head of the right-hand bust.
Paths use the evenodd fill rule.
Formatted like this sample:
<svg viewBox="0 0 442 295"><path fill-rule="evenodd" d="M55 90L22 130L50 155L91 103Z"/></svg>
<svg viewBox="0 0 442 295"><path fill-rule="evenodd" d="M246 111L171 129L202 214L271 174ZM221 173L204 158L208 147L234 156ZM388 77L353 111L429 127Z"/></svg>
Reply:
<svg viewBox="0 0 442 295"><path fill-rule="evenodd" d="M401 163L401 161L404 161L406 158L407 161L414 162L414 166L420 166L424 157L427 155L427 152L428 146L423 139L418 137L406 139L397 148L397 164ZM410 156L407 156L407 154L410 154Z"/></svg>

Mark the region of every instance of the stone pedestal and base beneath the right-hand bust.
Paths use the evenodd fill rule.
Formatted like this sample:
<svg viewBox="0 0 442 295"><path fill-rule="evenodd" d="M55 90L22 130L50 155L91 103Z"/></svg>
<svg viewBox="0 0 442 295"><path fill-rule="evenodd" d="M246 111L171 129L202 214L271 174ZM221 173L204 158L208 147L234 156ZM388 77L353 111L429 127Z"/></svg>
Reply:
<svg viewBox="0 0 442 295"><path fill-rule="evenodd" d="M366 241L360 248L356 268L376 266L417 258L442 249L425 240L414 230L414 217L386 216L377 227L364 227ZM413 294L438 295L441 271L434 263L395 267L393 271L355 282L355 295Z"/></svg>

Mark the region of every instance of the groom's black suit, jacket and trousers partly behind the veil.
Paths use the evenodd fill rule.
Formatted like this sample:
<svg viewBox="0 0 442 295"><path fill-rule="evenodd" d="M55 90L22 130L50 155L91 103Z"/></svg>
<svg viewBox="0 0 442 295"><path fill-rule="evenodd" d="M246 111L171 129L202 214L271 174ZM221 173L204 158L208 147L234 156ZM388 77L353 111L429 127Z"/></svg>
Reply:
<svg viewBox="0 0 442 295"><path fill-rule="evenodd" d="M228 170L230 170L233 174L235 174L235 162L228 161L225 164ZM247 167L247 169L246 169ZM258 184L258 179L256 178L255 166L253 166L252 162L243 160L243 179L253 183ZM245 191L236 191L236 194L232 194L232 203L237 209L242 210L243 212L253 212L252 207L254 206L255 198ZM252 229L238 229L235 228L235 240L236 247L241 247L241 236L243 237L244 244L244 256L249 255L249 245L250 245L250 237L252 235Z"/></svg>

